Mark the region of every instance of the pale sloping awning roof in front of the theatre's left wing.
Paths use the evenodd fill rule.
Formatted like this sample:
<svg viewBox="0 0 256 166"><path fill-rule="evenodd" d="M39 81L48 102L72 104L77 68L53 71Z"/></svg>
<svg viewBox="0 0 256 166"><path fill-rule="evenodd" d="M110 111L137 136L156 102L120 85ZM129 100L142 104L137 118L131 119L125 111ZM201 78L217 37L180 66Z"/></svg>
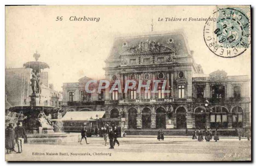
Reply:
<svg viewBox="0 0 256 166"><path fill-rule="evenodd" d="M102 118L105 111L70 111L67 112L61 121L93 121L98 115L98 119Z"/></svg>

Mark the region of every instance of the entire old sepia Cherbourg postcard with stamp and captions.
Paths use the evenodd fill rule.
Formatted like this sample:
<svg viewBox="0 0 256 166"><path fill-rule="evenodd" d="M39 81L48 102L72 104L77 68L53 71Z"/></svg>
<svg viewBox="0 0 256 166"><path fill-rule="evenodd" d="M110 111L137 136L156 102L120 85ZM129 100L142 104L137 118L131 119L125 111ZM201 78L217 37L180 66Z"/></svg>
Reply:
<svg viewBox="0 0 256 166"><path fill-rule="evenodd" d="M251 6L5 6L6 161L251 161Z"/></svg>

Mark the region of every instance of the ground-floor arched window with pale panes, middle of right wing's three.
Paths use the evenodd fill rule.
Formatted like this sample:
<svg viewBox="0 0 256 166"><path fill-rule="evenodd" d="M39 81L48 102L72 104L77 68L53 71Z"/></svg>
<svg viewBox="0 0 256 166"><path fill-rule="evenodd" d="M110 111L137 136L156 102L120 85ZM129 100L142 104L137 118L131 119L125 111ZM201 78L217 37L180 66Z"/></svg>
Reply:
<svg viewBox="0 0 256 166"><path fill-rule="evenodd" d="M223 106L215 106L210 114L211 128L228 128L228 109Z"/></svg>

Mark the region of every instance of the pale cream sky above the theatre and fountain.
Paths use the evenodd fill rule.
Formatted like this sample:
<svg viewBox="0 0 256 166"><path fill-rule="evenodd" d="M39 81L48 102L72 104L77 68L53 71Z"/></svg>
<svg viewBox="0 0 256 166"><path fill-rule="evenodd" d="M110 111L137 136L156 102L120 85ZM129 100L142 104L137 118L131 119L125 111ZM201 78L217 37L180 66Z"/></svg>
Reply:
<svg viewBox="0 0 256 166"><path fill-rule="evenodd" d="M213 54L204 42L205 21L158 21L159 18L208 18L216 6L7 6L5 10L5 67L20 68L38 61L50 69L49 83L62 90L64 82L87 76L103 79L106 58L115 37L183 31L194 59L204 73L251 75L250 49L235 58ZM62 21L56 21L62 16ZM70 21L71 16L100 18ZM151 24L153 19L153 32Z"/></svg>

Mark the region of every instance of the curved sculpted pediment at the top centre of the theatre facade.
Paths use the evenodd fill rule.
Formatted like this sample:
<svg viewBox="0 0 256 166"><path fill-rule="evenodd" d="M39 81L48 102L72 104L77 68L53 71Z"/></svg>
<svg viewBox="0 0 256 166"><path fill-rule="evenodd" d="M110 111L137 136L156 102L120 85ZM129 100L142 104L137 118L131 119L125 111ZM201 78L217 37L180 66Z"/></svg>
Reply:
<svg viewBox="0 0 256 166"><path fill-rule="evenodd" d="M133 45L128 49L125 49L121 54L139 54L139 53L154 53L154 52L174 52L164 44L156 41L146 40L140 41L137 45Z"/></svg>

